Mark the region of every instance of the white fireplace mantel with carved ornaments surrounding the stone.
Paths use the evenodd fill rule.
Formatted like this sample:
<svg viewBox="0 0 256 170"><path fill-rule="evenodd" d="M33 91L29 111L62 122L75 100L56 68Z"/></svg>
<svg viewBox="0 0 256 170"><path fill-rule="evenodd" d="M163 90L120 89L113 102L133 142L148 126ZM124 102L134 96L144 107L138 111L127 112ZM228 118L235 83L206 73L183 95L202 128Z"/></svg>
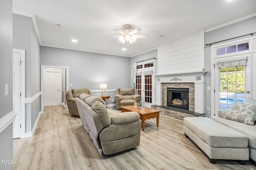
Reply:
<svg viewBox="0 0 256 170"><path fill-rule="evenodd" d="M189 73L175 73L168 75L155 75L156 78L156 103L162 105L161 83L194 83L195 85L195 113L204 113L204 75L208 71L195 71Z"/></svg>

